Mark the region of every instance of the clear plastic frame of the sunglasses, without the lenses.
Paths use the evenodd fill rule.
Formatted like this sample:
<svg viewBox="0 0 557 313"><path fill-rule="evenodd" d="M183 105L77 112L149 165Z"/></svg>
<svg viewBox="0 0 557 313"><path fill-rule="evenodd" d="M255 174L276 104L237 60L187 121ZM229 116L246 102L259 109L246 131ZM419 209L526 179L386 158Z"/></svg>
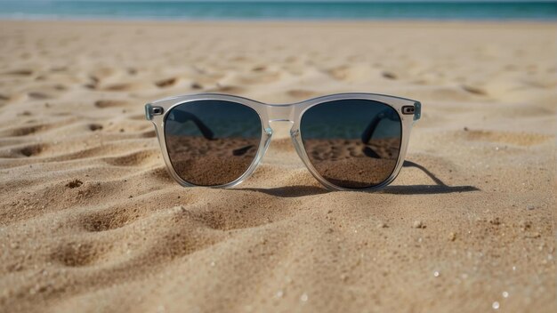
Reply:
<svg viewBox="0 0 557 313"><path fill-rule="evenodd" d="M405 98L383 95L383 94L375 94L375 93L338 93L338 94L322 96L310 100L303 100L301 102L292 103L292 104L267 104L267 103L262 103L256 100L250 100L235 95L219 94L219 93L199 93L199 94L175 96L175 97L165 98L162 100L157 100L148 103L145 106L145 115L147 120L151 121L155 125L158 142L160 144L163 157L165 159L166 168L168 172L172 175L174 180L180 183L184 187L193 187L197 185L191 184L188 181L184 181L180 177L180 175L178 175L178 173L176 173L176 171L174 170L174 166L171 163L168 154L168 149L166 147L165 118L168 115L168 113L172 110L172 108L178 105L182 105L191 101L198 101L198 100L223 100L223 101L235 102L244 105L246 107L253 108L254 111L259 116L261 121L261 126L262 126L261 140L259 142L257 152L255 154L254 160L252 161L251 165L249 165L246 172L243 173L241 176L239 176L236 180L231 181L230 183L226 183L218 186L211 186L212 188L230 188L236 186L242 181L246 180L246 178L248 178L252 173L254 173L255 168L257 167L257 165L259 165L263 155L265 154L265 151L267 150L270 144L270 139L272 137L272 128L270 127L270 122L285 121L285 122L290 122L292 124L292 127L290 128L290 137L295 146L295 150L298 153L298 156L302 159L303 164L306 165L310 173L325 187L327 187L327 189L360 190L360 191L374 191L374 190L382 189L383 187L389 185L392 181L394 181L397 175L400 173L400 169L406 157L408 141L410 139L410 131L412 130L412 125L420 118L421 115L421 104L416 100L409 100ZM369 188L362 188L362 189L344 188L335 185L331 181L327 181L327 179L325 179L321 174L319 174L319 172L316 170L314 165L311 164L311 160L307 155L306 149L303 147L302 133L300 127L303 114L309 108L317 106L321 103L331 102L335 100L372 100L375 102L380 102L381 104L384 104L386 106L389 106L398 113L400 117L400 131L401 131L399 155L396 158L396 165L394 166L394 170L392 171L390 176L387 177L387 179L382 181L381 183L376 184L375 186Z"/></svg>

